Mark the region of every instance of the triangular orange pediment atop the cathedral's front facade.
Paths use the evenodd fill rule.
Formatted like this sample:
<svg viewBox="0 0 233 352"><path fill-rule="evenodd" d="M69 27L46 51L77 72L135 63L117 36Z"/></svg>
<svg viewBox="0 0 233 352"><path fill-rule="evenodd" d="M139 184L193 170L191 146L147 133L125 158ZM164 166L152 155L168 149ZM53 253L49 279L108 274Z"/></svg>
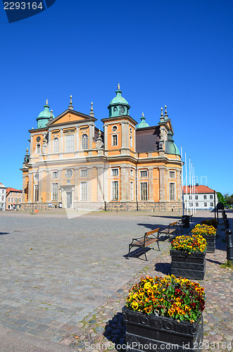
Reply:
<svg viewBox="0 0 233 352"><path fill-rule="evenodd" d="M65 125L75 122L94 122L96 118L93 118L89 115L85 115L84 113L79 113L78 111L66 110L56 118L47 123L48 127L57 126L57 125Z"/></svg>

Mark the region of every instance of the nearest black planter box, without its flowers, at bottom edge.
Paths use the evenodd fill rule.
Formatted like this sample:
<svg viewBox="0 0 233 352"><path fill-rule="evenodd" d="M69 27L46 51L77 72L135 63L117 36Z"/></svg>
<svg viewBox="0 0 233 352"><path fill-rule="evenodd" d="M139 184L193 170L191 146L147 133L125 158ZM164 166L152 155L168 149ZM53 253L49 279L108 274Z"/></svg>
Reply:
<svg viewBox="0 0 233 352"><path fill-rule="evenodd" d="M203 318L195 323L145 315L130 308L122 309L127 327L125 344L130 352L197 352L203 341ZM202 345L202 344L201 344Z"/></svg>

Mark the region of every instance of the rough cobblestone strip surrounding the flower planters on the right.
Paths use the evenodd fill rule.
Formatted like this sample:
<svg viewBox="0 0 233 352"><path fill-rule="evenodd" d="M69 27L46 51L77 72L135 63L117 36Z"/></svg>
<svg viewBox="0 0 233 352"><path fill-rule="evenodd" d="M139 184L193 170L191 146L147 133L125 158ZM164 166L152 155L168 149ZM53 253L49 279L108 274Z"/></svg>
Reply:
<svg viewBox="0 0 233 352"><path fill-rule="evenodd" d="M233 213L228 212L230 227L233 228ZM200 219L201 220L201 219ZM222 217L220 217L220 224ZM155 252L143 270L127 284L118 289L108 301L99 306L77 325L61 342L75 351L93 352L111 348L116 351L125 342L125 325L122 321L122 307L125 305L129 289L141 276L164 276L170 272L170 244L163 252ZM131 258L130 260L137 260ZM224 225L218 226L215 253L206 254L206 275L200 284L206 291L206 308L203 312L204 345L203 351L233 351L233 285L232 270L221 268L226 263Z"/></svg>

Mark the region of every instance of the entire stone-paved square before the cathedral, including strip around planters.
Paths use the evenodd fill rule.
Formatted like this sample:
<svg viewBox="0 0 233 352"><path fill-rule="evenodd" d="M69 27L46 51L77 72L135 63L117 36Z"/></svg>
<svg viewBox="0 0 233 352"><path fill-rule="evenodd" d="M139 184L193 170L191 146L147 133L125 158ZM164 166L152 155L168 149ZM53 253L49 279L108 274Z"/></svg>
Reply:
<svg viewBox="0 0 233 352"><path fill-rule="evenodd" d="M98 344L122 343L120 312L128 289L142 275L163 276L170 270L168 241L160 243L161 251L147 253L148 262L143 256L124 257L132 237L177 218L175 213L155 215L99 212L68 220L62 212L1 213L0 330L56 342L57 351L62 346L78 351L90 344L99 349ZM233 214L228 218L233 228ZM233 340L232 270L220 268L226 261L222 228L215 253L207 253L201 282L206 289L205 349L216 346L210 345L211 351L224 351L222 343L229 346ZM19 350L1 349L0 344L0 351ZM32 346L31 351L53 350Z"/></svg>

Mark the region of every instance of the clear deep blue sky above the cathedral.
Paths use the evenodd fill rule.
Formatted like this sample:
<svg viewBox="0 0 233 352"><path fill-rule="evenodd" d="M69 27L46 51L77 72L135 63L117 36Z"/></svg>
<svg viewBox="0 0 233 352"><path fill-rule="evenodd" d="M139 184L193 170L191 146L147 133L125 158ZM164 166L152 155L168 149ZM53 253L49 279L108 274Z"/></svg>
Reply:
<svg viewBox="0 0 233 352"><path fill-rule="evenodd" d="M1 26L0 182L22 189L28 130L46 99L59 115L89 113L97 127L120 82L130 115L156 125L168 106L178 148L199 183L233 194L232 1L56 0ZM204 178L206 177L206 178Z"/></svg>

